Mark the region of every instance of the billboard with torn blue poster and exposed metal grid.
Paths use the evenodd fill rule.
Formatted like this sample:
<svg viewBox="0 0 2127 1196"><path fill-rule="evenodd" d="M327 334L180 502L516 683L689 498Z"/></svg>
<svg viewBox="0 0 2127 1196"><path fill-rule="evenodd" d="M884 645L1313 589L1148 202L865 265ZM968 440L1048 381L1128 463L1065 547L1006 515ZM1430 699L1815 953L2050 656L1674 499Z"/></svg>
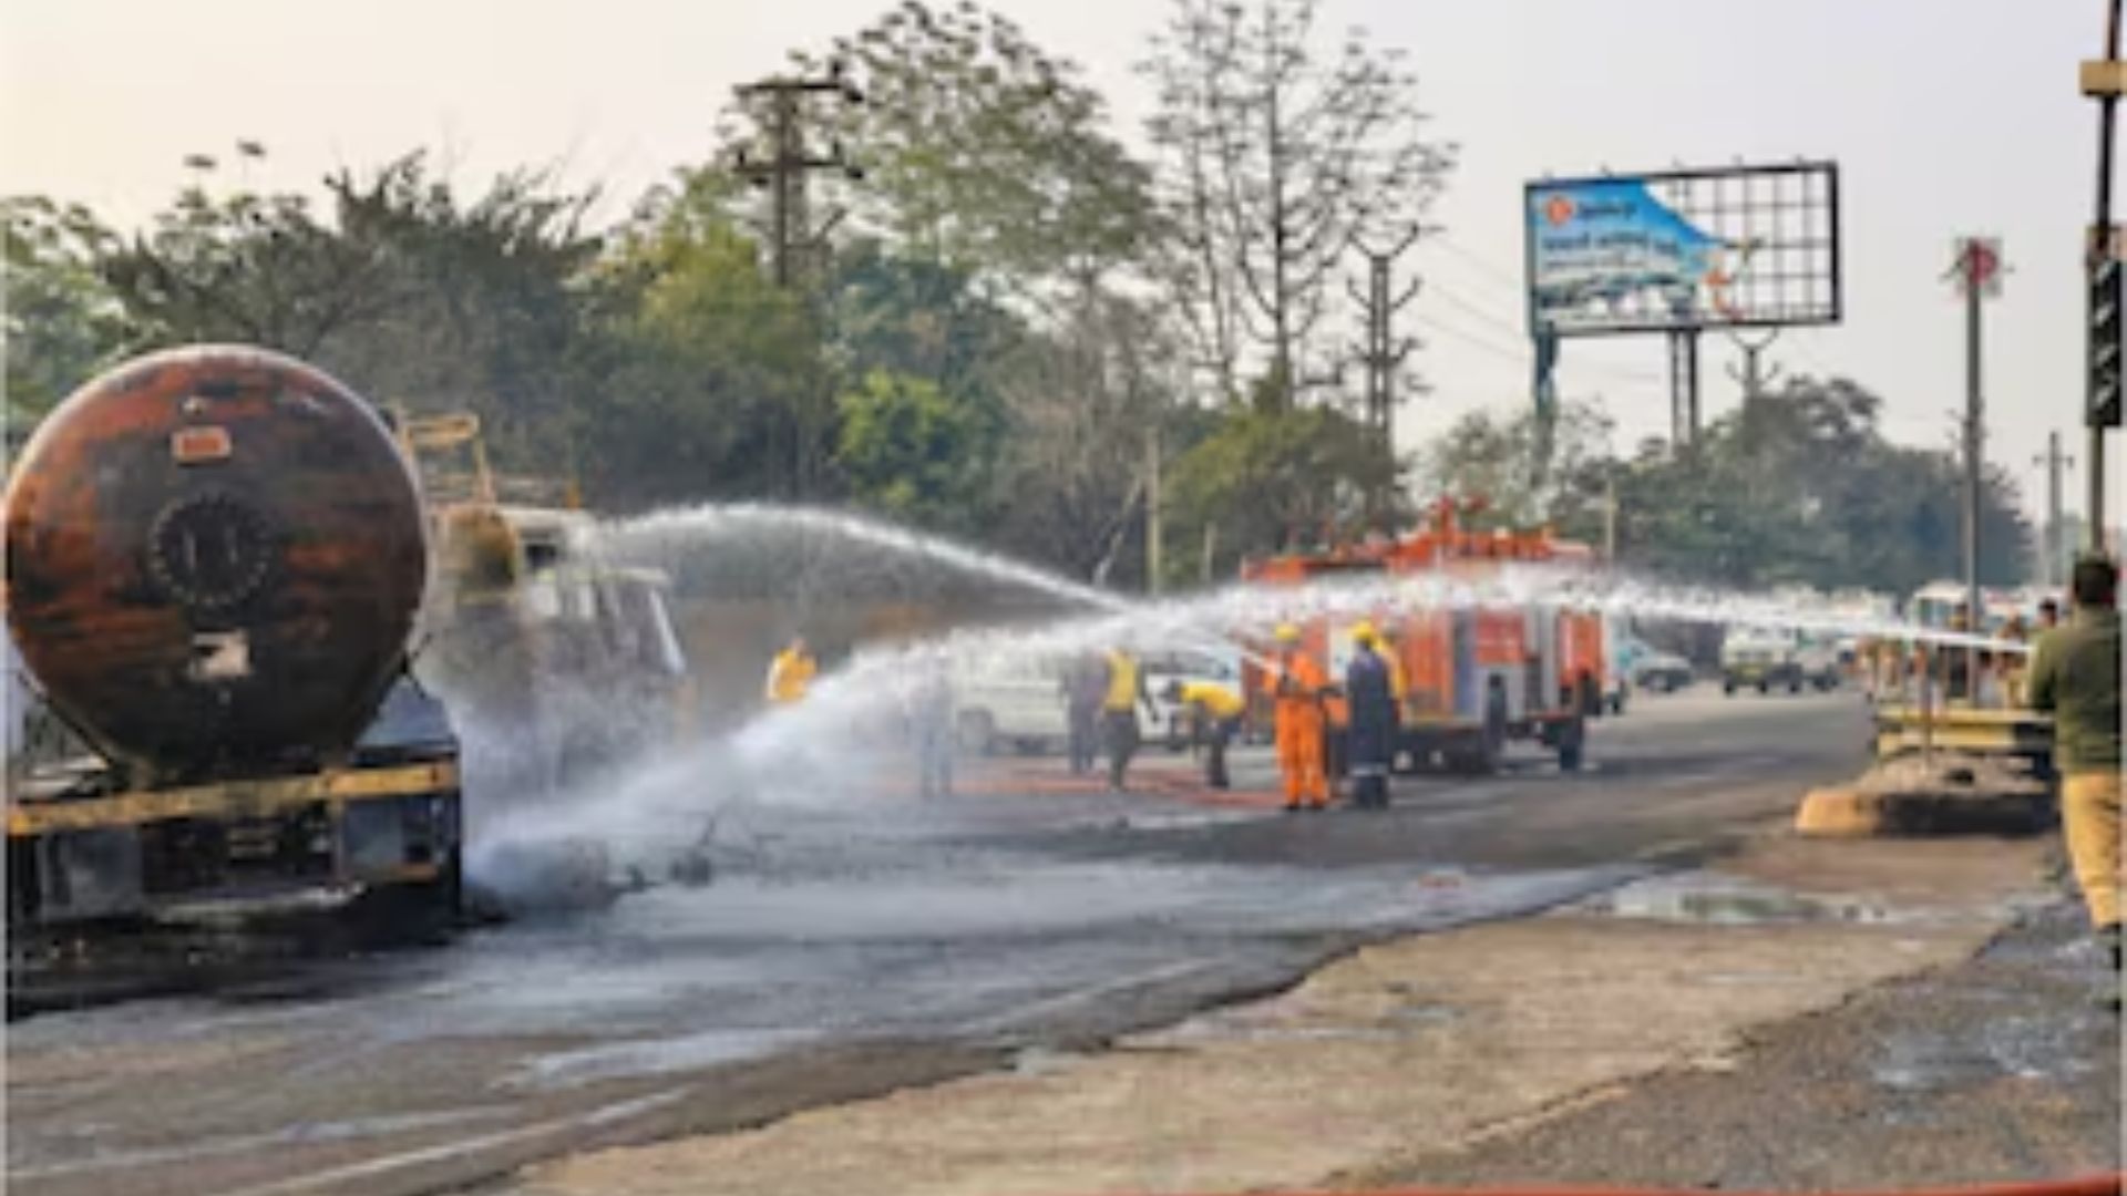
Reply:
<svg viewBox="0 0 2127 1196"><path fill-rule="evenodd" d="M1838 200L1829 162L1529 183L1529 334L1838 323Z"/></svg>

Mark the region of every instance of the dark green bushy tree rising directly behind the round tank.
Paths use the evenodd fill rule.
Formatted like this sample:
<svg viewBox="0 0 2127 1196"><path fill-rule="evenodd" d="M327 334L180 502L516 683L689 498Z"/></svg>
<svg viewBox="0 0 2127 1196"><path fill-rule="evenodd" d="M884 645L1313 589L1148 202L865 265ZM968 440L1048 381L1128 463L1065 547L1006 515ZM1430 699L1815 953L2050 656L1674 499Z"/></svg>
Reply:
<svg viewBox="0 0 2127 1196"><path fill-rule="evenodd" d="M479 413L504 468L566 470L598 296L591 196L510 172L462 198L419 153L323 185L313 204L198 183L145 232L100 240L132 340L279 349L376 402Z"/></svg>

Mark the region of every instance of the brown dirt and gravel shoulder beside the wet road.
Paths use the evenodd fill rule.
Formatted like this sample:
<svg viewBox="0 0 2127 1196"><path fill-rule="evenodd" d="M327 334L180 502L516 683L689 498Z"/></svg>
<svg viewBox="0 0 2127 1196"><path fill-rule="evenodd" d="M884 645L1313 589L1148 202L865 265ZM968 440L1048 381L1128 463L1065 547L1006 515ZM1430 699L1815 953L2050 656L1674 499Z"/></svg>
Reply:
<svg viewBox="0 0 2127 1196"><path fill-rule="evenodd" d="M1366 947L1268 1000L1104 1051L1025 1053L1006 1073L749 1132L579 1153L508 1190L1055 1196L2084 1173L2116 1160L2101 1128L2118 1119L2118 1036L2057 907L2042 841L1774 834L1719 870ZM2008 1126L1991 1145L1961 1130L1989 1117Z"/></svg>

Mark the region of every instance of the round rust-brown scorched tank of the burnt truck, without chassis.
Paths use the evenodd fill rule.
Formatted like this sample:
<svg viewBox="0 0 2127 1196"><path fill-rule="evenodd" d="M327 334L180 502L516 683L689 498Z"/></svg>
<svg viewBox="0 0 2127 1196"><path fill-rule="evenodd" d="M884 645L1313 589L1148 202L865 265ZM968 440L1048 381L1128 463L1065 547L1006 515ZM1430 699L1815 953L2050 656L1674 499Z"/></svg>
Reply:
<svg viewBox="0 0 2127 1196"><path fill-rule="evenodd" d="M21 658L132 783L338 760L428 581L419 492L370 404L251 347L153 353L74 392L4 517Z"/></svg>

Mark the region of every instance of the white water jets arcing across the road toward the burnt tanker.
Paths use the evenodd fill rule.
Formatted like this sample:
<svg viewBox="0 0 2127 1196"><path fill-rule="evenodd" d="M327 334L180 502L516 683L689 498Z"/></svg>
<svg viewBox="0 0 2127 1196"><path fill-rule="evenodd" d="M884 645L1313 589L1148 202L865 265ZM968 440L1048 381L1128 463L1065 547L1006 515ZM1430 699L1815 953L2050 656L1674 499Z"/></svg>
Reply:
<svg viewBox="0 0 2127 1196"><path fill-rule="evenodd" d="M1323 579L1263 587L1236 583L1185 598L1132 602L940 536L859 515L804 506L734 504L668 511L598 530L602 547L717 551L734 534L838 534L938 566L1023 585L1085 607L1042 626L961 628L900 647L868 649L821 677L810 696L759 713L738 728L687 743L576 794L566 811L498 826L504 841L596 836L617 856L670 849L704 817L734 804L864 807L891 800L878 785L898 751L893 719L936 670L976 660L1057 660L1112 645L1234 643L1249 651L1280 621L1378 617L1387 611L1529 607L1642 619L1778 628L1823 636L1874 636L1938 647L2023 651L2025 645L1942 632L1897 619L1721 589L1668 587L1614 575L1514 566L1485 579L1402 575ZM1255 651L1249 651L1255 655Z"/></svg>

